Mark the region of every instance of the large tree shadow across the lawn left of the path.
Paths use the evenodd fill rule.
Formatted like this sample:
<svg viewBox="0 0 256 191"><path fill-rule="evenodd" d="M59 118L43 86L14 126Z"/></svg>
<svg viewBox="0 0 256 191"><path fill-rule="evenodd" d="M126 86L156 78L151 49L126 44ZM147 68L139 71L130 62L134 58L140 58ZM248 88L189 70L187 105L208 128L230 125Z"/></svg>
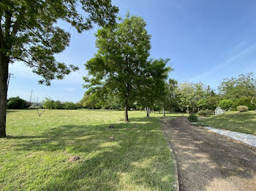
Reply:
<svg viewBox="0 0 256 191"><path fill-rule="evenodd" d="M46 152L53 157L52 168L56 170L49 172L51 179L35 174L37 179L45 179L35 189L172 190L170 152L165 139L159 136L157 117L130 118L129 123L111 124L113 129L108 124L64 125L40 136L12 137L24 139L12 149L26 155ZM110 136L115 139L110 140ZM80 160L69 163L67 158L72 155L78 155Z"/></svg>

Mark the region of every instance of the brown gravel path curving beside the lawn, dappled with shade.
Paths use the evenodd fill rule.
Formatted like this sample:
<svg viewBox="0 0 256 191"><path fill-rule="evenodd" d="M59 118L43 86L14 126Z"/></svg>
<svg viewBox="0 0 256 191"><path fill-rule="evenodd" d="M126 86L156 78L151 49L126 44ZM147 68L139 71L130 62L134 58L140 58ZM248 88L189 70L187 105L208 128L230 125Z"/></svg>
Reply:
<svg viewBox="0 0 256 191"><path fill-rule="evenodd" d="M256 190L256 148L198 128L187 117L162 120L180 190Z"/></svg>

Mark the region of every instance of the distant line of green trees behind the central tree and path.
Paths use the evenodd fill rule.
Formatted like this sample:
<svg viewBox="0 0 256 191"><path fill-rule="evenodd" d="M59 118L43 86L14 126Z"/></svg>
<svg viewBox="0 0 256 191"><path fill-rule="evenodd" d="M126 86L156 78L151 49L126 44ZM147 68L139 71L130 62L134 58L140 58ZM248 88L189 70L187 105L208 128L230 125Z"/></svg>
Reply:
<svg viewBox="0 0 256 191"><path fill-rule="evenodd" d="M162 87L164 89L151 98L151 111L213 112L217 106L225 110L236 110L238 106L247 106L249 110L256 109L252 101L256 96L256 79L252 73L224 79L218 87L218 92L202 82L178 83L175 79L169 79ZM141 104L140 100L130 103L129 109L146 109L146 104ZM87 90L79 103L91 109L124 109L118 95L108 94L107 90Z"/></svg>

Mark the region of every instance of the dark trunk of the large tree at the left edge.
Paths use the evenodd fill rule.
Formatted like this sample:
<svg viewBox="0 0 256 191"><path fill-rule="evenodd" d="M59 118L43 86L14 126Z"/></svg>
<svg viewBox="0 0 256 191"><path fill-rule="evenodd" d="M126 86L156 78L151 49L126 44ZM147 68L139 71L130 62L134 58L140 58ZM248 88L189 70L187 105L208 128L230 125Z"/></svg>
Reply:
<svg viewBox="0 0 256 191"><path fill-rule="evenodd" d="M0 137L6 136L8 71L9 59L0 50Z"/></svg>

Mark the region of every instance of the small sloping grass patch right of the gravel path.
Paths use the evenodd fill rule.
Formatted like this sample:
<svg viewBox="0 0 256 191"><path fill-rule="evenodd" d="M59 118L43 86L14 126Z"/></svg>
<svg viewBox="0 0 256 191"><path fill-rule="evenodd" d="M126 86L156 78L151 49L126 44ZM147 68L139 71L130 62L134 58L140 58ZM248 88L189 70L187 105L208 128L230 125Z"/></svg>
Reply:
<svg viewBox="0 0 256 191"><path fill-rule="evenodd" d="M206 126L256 135L256 112L225 112L200 119Z"/></svg>

